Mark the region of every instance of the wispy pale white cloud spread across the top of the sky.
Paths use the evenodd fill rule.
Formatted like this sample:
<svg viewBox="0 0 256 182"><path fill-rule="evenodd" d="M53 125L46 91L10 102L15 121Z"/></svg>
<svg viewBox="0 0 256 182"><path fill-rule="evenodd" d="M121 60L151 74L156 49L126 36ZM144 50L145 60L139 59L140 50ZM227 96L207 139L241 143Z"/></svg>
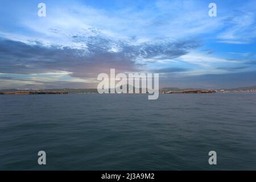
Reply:
<svg viewBox="0 0 256 182"><path fill-rule="evenodd" d="M8 39L21 39L22 36L24 41L39 39L44 44L84 48L84 44L72 38L100 35L141 44L163 36L183 39L209 34L224 24L222 18L209 19L207 2L202 5L198 1L152 1L143 3L143 6L141 3L109 11L82 2L72 2L68 6L48 2L51 8L47 9L45 18L31 17L30 14L18 16L22 31L13 32L13 35L2 31L2 34Z"/></svg>

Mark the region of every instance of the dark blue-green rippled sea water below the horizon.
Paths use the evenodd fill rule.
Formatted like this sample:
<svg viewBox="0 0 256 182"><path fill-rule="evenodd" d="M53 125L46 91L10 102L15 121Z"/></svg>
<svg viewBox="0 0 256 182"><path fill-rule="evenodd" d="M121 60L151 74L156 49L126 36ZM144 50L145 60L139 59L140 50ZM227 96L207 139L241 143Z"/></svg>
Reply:
<svg viewBox="0 0 256 182"><path fill-rule="evenodd" d="M255 170L255 103L250 93L0 96L0 169Z"/></svg>

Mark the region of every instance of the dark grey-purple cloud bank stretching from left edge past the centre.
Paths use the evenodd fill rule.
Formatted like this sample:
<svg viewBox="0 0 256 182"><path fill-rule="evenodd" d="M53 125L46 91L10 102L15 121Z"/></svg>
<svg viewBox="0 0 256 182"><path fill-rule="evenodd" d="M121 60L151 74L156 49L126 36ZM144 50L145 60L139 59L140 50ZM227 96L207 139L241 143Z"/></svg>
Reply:
<svg viewBox="0 0 256 182"><path fill-rule="evenodd" d="M100 36L80 38L79 41L86 45L86 49L1 39L0 47L3 49L0 50L0 72L35 74L64 71L70 72L74 77L96 77L98 73L109 71L110 68L122 72L139 71L139 63L136 62L138 58L172 59L185 55L188 49L197 46L197 43L191 40L165 40L133 46ZM111 51L113 44L118 51Z"/></svg>

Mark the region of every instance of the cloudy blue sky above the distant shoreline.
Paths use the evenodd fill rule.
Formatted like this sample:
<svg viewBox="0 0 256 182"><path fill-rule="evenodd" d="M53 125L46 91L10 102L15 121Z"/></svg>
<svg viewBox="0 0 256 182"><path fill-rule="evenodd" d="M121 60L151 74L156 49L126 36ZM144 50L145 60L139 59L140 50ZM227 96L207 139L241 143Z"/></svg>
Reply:
<svg viewBox="0 0 256 182"><path fill-rule="evenodd" d="M256 85L254 0L1 0L0 14L0 89L97 88L110 68L160 88Z"/></svg>

